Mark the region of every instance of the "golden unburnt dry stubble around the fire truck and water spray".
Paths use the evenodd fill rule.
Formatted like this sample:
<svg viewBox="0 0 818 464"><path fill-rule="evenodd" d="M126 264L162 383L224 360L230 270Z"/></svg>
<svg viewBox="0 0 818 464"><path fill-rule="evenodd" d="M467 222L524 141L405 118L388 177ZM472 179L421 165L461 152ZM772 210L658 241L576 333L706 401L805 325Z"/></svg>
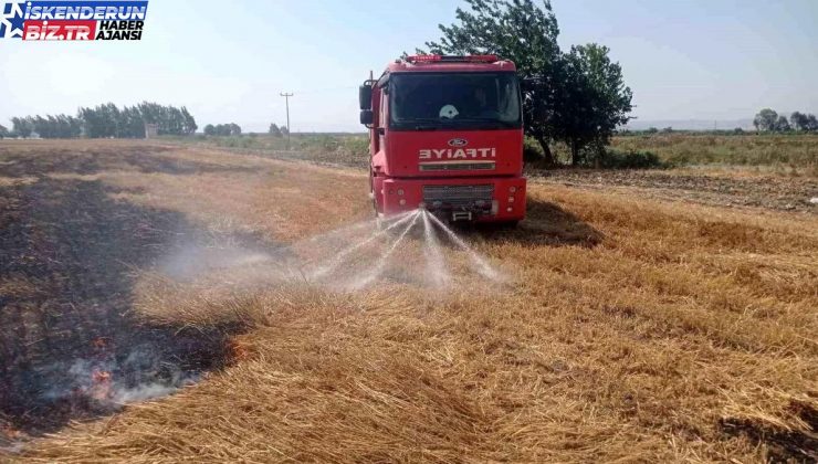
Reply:
<svg viewBox="0 0 818 464"><path fill-rule="evenodd" d="M356 175L217 151L161 156L253 171L101 176L128 186L122 201L285 242L366 214ZM468 234L512 270L497 292L237 293L145 274L145 317L247 327L235 363L23 457L816 460L818 218L556 186L533 186L529 202L520 229Z"/></svg>

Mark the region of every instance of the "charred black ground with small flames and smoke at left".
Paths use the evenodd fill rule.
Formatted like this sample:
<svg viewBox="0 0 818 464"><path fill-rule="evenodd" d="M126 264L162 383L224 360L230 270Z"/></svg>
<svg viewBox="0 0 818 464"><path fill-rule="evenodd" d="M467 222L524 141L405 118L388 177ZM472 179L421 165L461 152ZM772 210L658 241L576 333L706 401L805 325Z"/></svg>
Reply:
<svg viewBox="0 0 818 464"><path fill-rule="evenodd" d="M141 172L213 169L145 149L157 152L122 159ZM224 365L227 328L149 326L130 314L135 271L199 234L183 214L115 200L120 190L83 178L107 167L98 154L2 161L0 425L53 432Z"/></svg>

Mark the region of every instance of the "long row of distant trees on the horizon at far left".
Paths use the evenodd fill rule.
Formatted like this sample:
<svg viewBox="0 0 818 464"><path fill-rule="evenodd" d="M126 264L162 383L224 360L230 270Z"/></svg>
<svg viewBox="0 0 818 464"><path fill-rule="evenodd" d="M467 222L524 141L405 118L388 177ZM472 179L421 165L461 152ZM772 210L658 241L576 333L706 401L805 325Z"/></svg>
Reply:
<svg viewBox="0 0 818 464"><path fill-rule="evenodd" d="M25 116L11 118L11 131L0 137L42 138L145 138L145 124L155 124L159 135L196 133L196 119L186 107L144 102L119 109L113 103L80 108L76 117L69 115Z"/></svg>

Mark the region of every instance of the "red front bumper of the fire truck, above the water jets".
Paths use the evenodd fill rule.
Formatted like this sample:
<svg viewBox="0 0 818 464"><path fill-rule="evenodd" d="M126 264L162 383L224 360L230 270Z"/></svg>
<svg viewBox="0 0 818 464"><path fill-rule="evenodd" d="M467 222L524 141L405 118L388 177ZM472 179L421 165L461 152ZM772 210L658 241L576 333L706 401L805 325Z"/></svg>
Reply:
<svg viewBox="0 0 818 464"><path fill-rule="evenodd" d="M384 179L378 211L424 208L449 220L518 221L525 218L525 178Z"/></svg>

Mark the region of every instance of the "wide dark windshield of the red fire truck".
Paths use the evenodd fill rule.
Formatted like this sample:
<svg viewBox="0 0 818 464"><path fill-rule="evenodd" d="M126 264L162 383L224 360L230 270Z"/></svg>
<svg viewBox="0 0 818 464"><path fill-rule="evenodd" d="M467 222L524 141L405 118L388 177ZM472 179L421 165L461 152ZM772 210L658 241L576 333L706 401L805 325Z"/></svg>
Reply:
<svg viewBox="0 0 818 464"><path fill-rule="evenodd" d="M514 73L392 74L389 92L394 129L522 127Z"/></svg>

